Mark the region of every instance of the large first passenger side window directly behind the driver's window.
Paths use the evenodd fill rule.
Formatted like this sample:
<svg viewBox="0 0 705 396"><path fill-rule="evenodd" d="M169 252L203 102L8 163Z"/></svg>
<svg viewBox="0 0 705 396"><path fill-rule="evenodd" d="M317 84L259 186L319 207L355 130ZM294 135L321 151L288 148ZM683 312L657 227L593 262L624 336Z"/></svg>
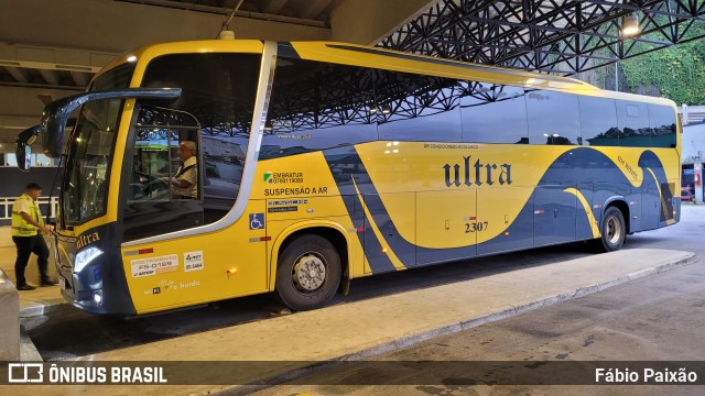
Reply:
<svg viewBox="0 0 705 396"><path fill-rule="evenodd" d="M285 58L274 75L260 160L377 140L370 69Z"/></svg>

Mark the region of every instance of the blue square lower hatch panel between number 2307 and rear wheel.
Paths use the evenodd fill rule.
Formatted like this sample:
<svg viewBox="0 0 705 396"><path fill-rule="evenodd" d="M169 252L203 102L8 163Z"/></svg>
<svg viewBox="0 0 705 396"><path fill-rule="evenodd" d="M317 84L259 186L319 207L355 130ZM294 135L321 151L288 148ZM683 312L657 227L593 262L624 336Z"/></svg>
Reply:
<svg viewBox="0 0 705 396"><path fill-rule="evenodd" d="M550 245L575 241L574 194L565 191L575 186L540 186L535 189L533 202L533 244Z"/></svg>

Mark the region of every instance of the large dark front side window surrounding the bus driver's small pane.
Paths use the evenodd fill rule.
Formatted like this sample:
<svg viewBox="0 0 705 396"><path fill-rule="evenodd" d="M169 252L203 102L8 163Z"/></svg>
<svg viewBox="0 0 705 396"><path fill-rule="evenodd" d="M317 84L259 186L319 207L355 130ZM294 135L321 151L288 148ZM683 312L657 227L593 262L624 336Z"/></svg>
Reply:
<svg viewBox="0 0 705 396"><path fill-rule="evenodd" d="M151 123L166 122L180 132L172 148L174 172L178 168L175 148L178 142L196 141L202 179L199 199L174 202L181 207L203 202L206 223L221 219L240 191L260 64L261 54L167 54L152 59L144 70L142 87L182 89L178 100L164 105L171 112L155 114L159 117ZM191 121L180 114L188 114ZM187 127L188 135L184 135L185 129L181 127ZM198 133L199 140L194 138Z"/></svg>

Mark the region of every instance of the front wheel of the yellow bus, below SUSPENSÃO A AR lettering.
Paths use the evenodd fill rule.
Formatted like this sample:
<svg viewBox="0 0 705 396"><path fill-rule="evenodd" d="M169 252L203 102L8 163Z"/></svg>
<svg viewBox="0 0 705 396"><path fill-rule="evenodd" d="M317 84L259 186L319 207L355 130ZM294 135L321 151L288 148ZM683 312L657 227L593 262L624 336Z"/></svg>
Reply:
<svg viewBox="0 0 705 396"><path fill-rule="evenodd" d="M293 240L276 265L276 294L293 310L308 310L333 298L340 284L340 256L327 239L305 234Z"/></svg>

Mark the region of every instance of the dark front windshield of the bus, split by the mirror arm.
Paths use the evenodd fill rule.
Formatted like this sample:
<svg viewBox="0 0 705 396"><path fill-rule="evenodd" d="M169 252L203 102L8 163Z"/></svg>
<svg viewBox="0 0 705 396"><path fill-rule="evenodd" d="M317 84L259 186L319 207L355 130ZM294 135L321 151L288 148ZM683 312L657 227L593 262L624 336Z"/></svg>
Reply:
<svg viewBox="0 0 705 396"><path fill-rule="evenodd" d="M134 65L118 66L91 82L89 90L128 88ZM97 100L82 109L70 134L62 189L67 224L82 224L106 213L110 160L122 99Z"/></svg>

